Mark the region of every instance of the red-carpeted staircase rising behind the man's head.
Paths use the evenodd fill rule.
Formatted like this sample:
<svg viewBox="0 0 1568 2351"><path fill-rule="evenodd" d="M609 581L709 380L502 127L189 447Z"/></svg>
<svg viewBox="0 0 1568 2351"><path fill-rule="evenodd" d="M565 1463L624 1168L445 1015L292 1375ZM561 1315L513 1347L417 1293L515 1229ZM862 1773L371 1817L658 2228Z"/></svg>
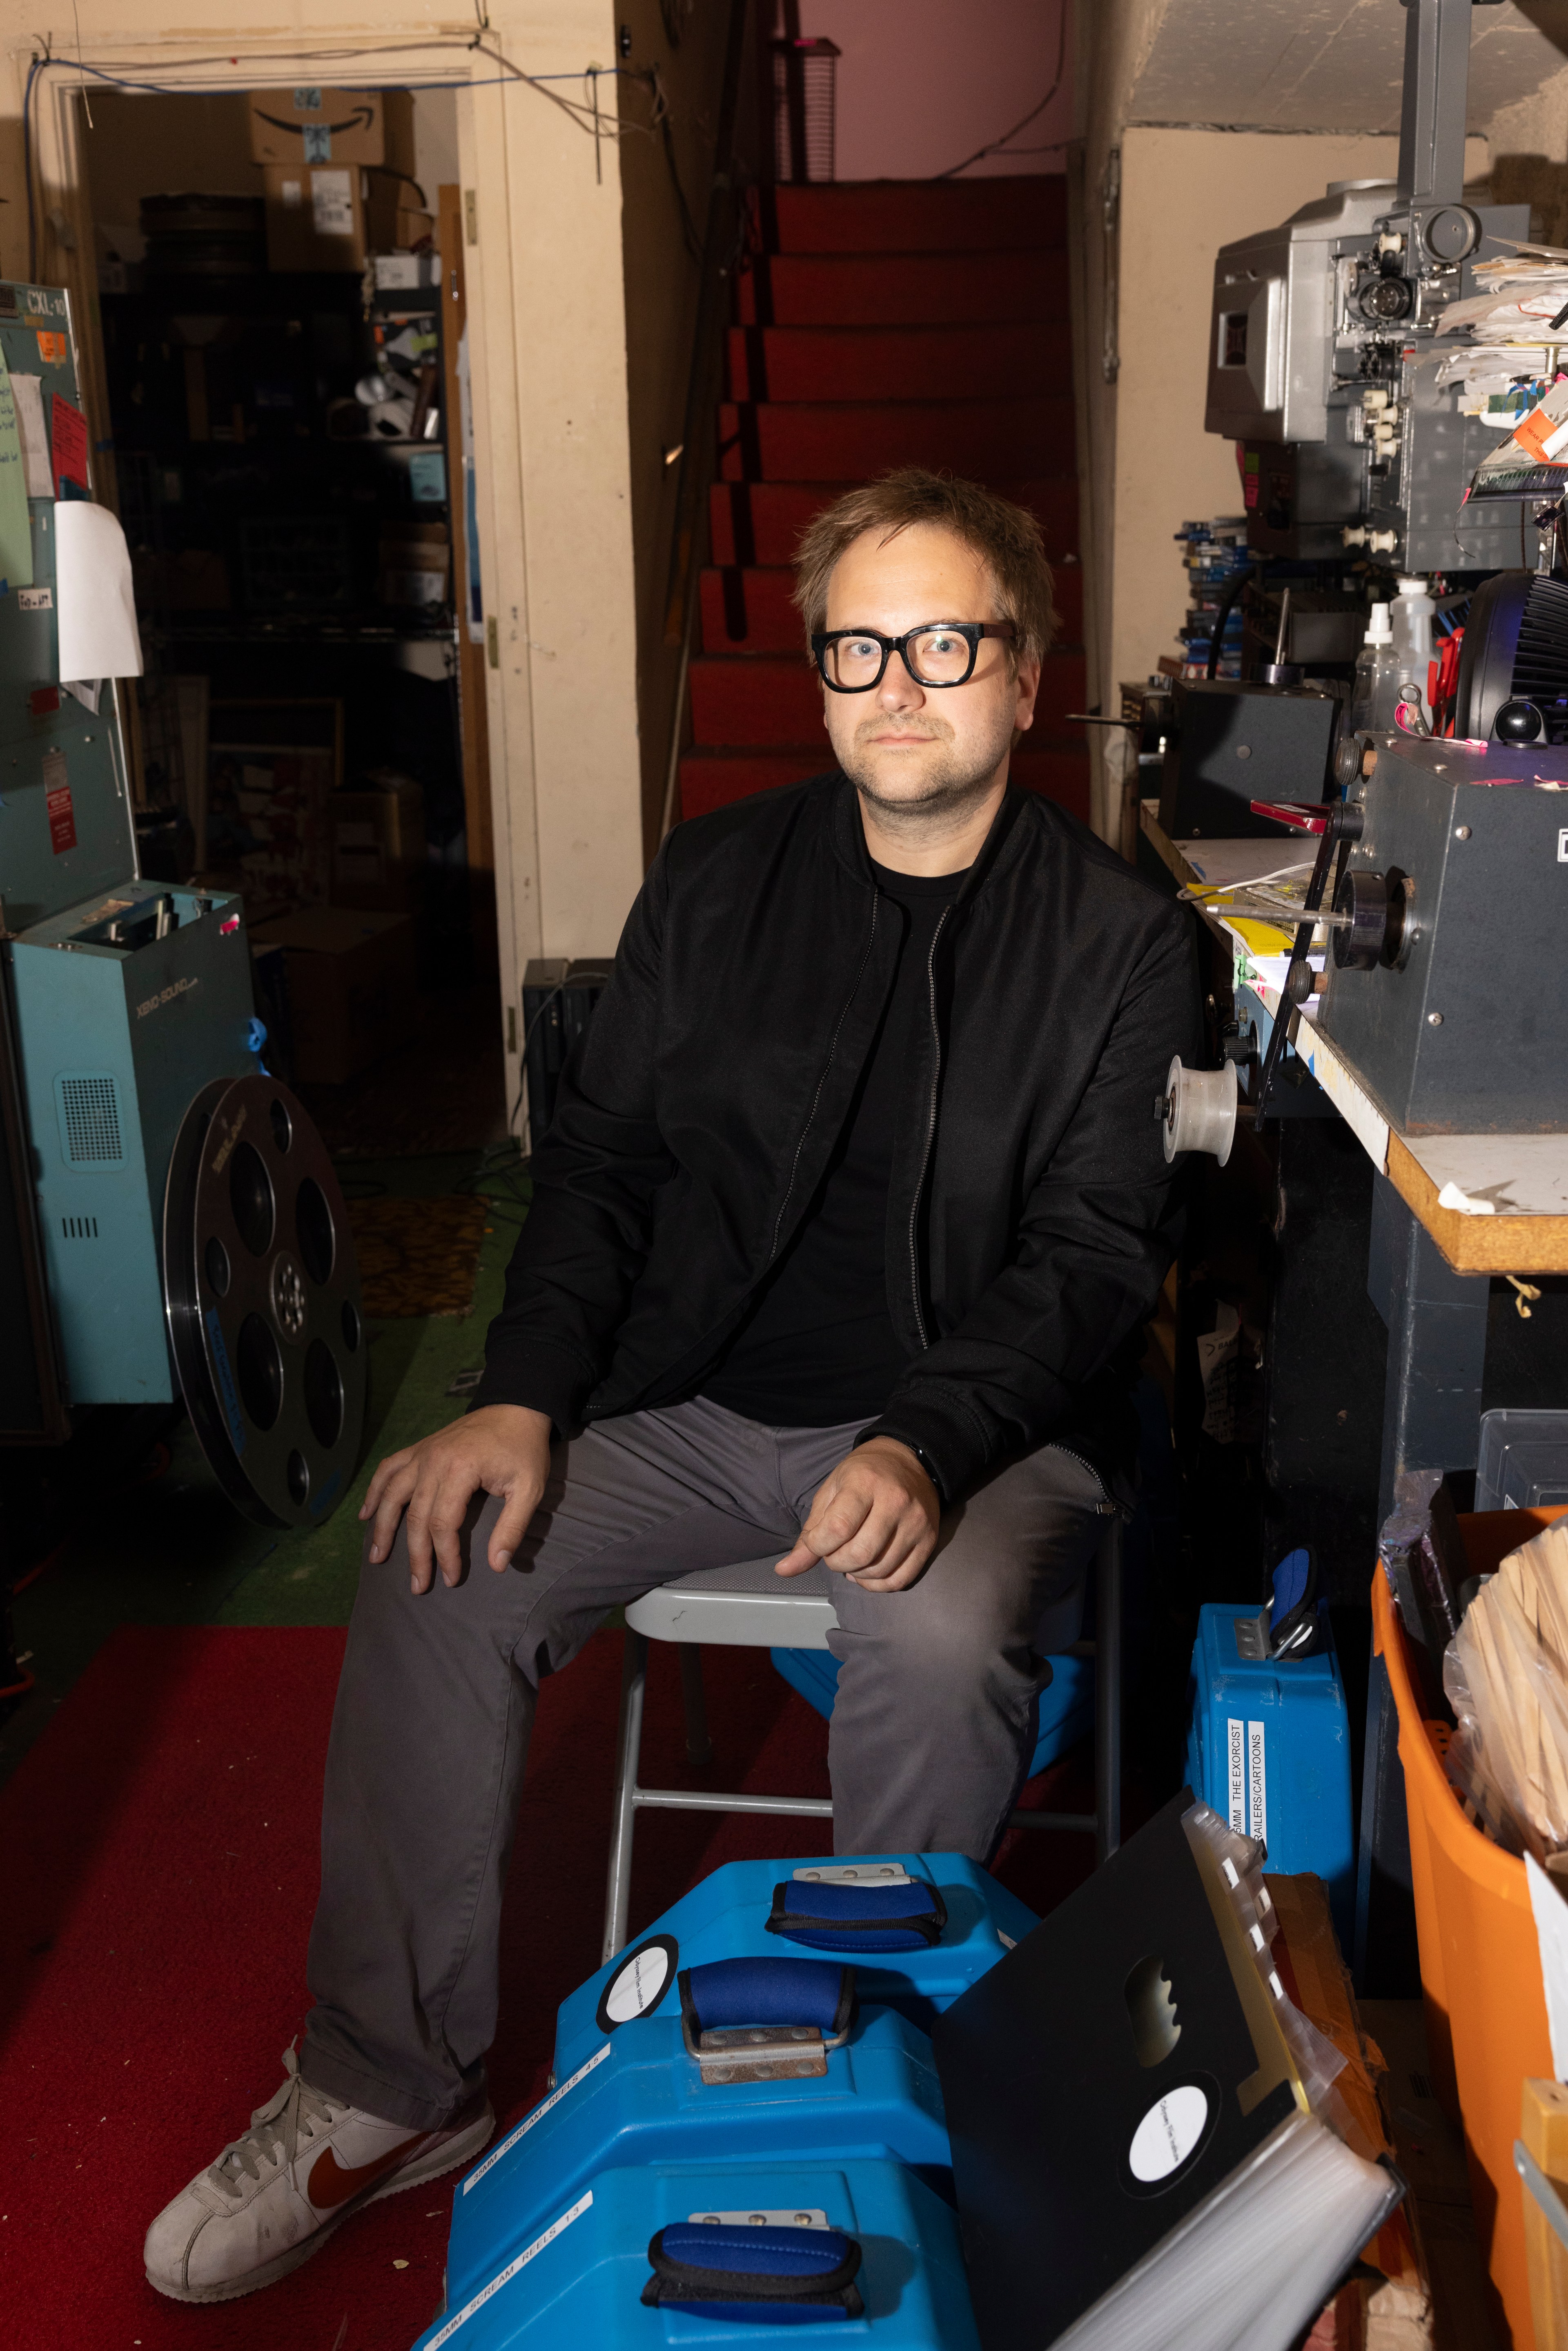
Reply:
<svg viewBox="0 0 1568 2351"><path fill-rule="evenodd" d="M1027 505L1060 609L1013 778L1088 818L1063 179L780 186L759 197L719 407L682 813L832 766L790 604L842 489L936 465Z"/></svg>

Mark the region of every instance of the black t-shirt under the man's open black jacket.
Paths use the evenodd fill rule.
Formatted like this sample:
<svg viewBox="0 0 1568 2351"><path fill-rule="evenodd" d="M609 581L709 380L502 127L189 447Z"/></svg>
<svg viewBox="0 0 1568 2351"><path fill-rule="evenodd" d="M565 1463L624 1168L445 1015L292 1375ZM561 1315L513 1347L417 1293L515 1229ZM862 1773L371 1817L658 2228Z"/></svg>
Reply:
<svg viewBox="0 0 1568 2351"><path fill-rule="evenodd" d="M816 1197L703 1382L712 1404L778 1429L875 1420L907 1361L886 1300L893 1133L912 1030L929 1018L931 938L964 875L896 875L886 865L872 875L903 922L886 1011Z"/></svg>

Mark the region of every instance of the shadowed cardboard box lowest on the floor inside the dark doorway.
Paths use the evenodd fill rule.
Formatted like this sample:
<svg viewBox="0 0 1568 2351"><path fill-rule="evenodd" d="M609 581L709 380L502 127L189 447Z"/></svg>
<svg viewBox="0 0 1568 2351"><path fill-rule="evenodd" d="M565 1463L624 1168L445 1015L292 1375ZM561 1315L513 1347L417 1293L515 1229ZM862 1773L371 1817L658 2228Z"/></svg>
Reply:
<svg viewBox="0 0 1568 2351"><path fill-rule="evenodd" d="M346 1086L395 1051L414 1018L414 924L407 915L315 905L252 931L284 950L294 1072Z"/></svg>

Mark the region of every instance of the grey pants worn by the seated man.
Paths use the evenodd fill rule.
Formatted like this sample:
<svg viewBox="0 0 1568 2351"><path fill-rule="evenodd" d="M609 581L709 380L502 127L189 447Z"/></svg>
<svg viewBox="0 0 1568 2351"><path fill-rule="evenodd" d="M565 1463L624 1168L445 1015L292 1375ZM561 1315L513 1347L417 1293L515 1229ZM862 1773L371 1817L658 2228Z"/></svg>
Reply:
<svg viewBox="0 0 1568 2351"><path fill-rule="evenodd" d="M313 2088L411 2130L477 2095L541 1674L654 1585L783 1554L860 1427L766 1429L701 1399L632 1413L557 1446L503 1575L484 1559L498 1502L470 1514L451 1589L437 1575L414 1599L402 1533L360 1570L310 1935ZM907 1592L835 1578L837 1853L990 1857L1034 1744L1044 1657L1079 1634L1103 1507L1100 1481L1044 1446L945 1514Z"/></svg>

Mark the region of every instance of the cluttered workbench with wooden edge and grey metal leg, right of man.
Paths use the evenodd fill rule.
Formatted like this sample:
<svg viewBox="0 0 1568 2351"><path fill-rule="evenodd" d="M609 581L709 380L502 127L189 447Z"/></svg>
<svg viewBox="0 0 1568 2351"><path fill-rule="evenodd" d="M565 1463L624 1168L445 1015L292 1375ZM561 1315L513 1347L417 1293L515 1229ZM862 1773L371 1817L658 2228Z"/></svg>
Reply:
<svg viewBox="0 0 1568 2351"><path fill-rule="evenodd" d="M1366 1288L1389 1333L1378 1479L1382 1523L1401 1474L1476 1467L1490 1281L1512 1277L1519 1291L1530 1274L1568 1272L1568 1136L1401 1133L1345 1053L1316 1027L1316 997L1305 1006L1284 1002L1291 933L1227 912L1227 889L1262 882L1265 872L1279 875L1291 863L1291 839L1173 842L1159 825L1154 799L1140 802L1140 823L1150 849L1175 882L1206 891L1206 898L1187 903L1229 957L1237 1013L1255 1027L1258 1053L1267 1053L1284 1006L1293 1053L1373 1164ZM1302 851L1300 870L1309 870L1309 863ZM1316 950L1314 962L1321 964ZM1309 1345L1326 1347L1331 1338L1314 1328ZM1368 1573L1371 1568L1373 1561ZM1413 1965L1410 1843L1396 1716L1385 1665L1373 1657L1361 1777L1356 1980L1361 1989L1399 1996L1415 1989Z"/></svg>

